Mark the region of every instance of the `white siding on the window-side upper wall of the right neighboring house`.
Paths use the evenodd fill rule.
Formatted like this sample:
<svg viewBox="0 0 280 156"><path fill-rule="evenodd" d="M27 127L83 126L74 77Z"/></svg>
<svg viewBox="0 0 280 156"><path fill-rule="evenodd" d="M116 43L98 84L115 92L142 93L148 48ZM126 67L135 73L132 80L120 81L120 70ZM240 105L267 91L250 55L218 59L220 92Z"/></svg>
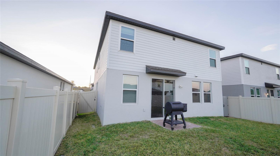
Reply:
<svg viewBox="0 0 280 156"><path fill-rule="evenodd" d="M244 59L249 60L250 75L245 74ZM254 61L243 57L241 57L241 64L244 85L264 86L264 82L280 84L280 80L277 80L276 77L275 66L265 63L261 64L259 61Z"/></svg>

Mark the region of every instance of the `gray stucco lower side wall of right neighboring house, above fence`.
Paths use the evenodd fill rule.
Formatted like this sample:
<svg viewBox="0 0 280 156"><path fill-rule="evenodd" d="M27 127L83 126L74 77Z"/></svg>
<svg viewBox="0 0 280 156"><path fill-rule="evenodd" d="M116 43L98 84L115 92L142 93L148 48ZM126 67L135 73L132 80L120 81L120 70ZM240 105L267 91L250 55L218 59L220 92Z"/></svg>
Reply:
<svg viewBox="0 0 280 156"><path fill-rule="evenodd" d="M223 96L244 96L243 85L223 85Z"/></svg>

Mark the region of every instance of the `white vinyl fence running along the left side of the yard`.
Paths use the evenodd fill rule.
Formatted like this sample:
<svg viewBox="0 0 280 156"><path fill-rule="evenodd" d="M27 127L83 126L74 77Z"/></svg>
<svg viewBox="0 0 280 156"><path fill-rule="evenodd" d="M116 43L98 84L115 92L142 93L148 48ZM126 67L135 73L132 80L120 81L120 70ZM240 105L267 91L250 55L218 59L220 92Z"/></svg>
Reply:
<svg viewBox="0 0 280 156"><path fill-rule="evenodd" d="M78 92L0 85L0 155L54 155L77 115Z"/></svg>

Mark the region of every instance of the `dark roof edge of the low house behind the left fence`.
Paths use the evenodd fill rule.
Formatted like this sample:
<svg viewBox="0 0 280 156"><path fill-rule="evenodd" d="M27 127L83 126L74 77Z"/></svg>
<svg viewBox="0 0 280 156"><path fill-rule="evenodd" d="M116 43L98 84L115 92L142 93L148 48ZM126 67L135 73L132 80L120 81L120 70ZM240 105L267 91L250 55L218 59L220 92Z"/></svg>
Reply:
<svg viewBox="0 0 280 156"><path fill-rule="evenodd" d="M50 76L53 76L55 78L58 78L60 80L63 80L71 85L75 85L72 82L64 79L63 77L59 76L58 74L54 73L53 71L50 71L49 69L47 69L46 67L40 65L39 63L33 61L32 59L30 59L29 57L21 54L20 52L14 50L13 48L11 48L10 46L7 46L6 44L4 44L3 42L0 41L0 49L1 49L1 54L4 54L6 56L9 56L17 61L20 61L28 66L31 66L39 71L42 71L46 74L49 74Z"/></svg>

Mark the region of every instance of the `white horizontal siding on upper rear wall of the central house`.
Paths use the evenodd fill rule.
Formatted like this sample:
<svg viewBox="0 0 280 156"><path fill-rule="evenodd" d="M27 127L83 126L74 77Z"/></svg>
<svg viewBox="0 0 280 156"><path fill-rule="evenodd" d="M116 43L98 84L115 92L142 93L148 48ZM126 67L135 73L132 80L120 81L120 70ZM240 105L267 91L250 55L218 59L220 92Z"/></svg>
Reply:
<svg viewBox="0 0 280 156"><path fill-rule="evenodd" d="M110 69L146 72L146 65L178 69L187 73L186 77L221 81L220 53L216 51L217 68L209 67L208 48L194 42L135 27L135 54L119 51L119 27L128 25L111 20L109 45ZM108 31L107 31L108 32Z"/></svg>

